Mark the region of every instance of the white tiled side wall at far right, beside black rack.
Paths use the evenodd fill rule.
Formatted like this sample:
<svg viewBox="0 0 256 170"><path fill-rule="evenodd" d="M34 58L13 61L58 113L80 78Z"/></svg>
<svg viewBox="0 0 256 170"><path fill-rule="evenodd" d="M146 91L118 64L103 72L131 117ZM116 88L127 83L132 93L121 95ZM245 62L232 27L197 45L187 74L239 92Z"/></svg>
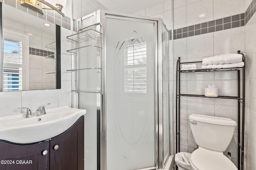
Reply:
<svg viewBox="0 0 256 170"><path fill-rule="evenodd" d="M245 8L249 6L251 0L245 0ZM245 59L246 59L246 170L256 169L256 16L252 16L245 25Z"/></svg>

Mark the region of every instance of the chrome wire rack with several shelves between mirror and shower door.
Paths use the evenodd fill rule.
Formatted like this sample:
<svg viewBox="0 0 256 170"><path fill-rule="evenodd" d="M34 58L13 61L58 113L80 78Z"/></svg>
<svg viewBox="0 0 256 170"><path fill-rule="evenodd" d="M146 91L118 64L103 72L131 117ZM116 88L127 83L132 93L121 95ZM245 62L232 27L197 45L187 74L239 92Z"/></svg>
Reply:
<svg viewBox="0 0 256 170"><path fill-rule="evenodd" d="M73 43L75 45L78 45L80 43L87 43L87 42L91 42L91 41L101 41L101 45L102 45L101 47L98 46L98 45L89 44L89 45L84 45L82 47L77 47L77 48L74 48L74 49L67 50L67 52L77 54L78 49L82 49L82 48L86 48L86 47L96 47L96 48L101 50L101 55L100 56L102 57L102 55L103 55L102 54L102 47L103 47L102 35L103 34L100 31L97 31L93 28L90 28L90 27L97 26L97 25L100 25L101 30L102 30L102 23L98 22L98 23L89 25L87 27L84 27L84 28L78 30L78 33L69 35L67 37L67 41L70 42L70 43ZM66 71L76 71L76 72L78 72L79 70L100 70L101 71L101 78L102 78L102 68L101 67L100 68L98 68L98 67L97 68L94 68L94 67L91 67L91 68L77 68L77 69L66 70ZM78 77L77 77L76 83L77 83L76 84L77 90L71 90L72 92L102 94L102 90L88 90L88 91L78 90ZM101 85L100 88L102 89L102 85Z"/></svg>

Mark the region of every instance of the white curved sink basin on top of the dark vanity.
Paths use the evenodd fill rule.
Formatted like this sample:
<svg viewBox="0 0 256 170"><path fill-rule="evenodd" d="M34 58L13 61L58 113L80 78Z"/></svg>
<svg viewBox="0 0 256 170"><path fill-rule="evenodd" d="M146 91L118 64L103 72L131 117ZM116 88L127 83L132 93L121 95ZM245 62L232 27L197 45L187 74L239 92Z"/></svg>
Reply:
<svg viewBox="0 0 256 170"><path fill-rule="evenodd" d="M85 113L83 109L63 106L46 109L45 115L36 117L25 118L26 113L0 117L0 140L12 143L44 141L68 130Z"/></svg>

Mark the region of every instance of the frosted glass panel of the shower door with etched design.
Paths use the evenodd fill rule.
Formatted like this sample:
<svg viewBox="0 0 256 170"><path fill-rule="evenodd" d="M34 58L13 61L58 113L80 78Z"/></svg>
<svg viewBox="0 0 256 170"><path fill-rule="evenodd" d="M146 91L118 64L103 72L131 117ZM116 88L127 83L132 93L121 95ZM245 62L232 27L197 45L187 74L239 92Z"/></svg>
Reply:
<svg viewBox="0 0 256 170"><path fill-rule="evenodd" d="M155 166L154 23L106 19L107 169Z"/></svg>

